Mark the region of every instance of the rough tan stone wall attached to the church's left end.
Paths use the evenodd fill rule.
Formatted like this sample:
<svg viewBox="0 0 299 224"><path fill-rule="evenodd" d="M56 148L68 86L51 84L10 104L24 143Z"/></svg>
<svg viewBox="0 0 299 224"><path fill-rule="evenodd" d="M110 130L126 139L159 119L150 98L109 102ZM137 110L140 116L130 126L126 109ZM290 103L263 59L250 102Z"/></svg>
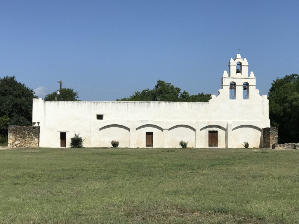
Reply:
<svg viewBox="0 0 299 224"><path fill-rule="evenodd" d="M39 126L8 126L8 148L39 147Z"/></svg>

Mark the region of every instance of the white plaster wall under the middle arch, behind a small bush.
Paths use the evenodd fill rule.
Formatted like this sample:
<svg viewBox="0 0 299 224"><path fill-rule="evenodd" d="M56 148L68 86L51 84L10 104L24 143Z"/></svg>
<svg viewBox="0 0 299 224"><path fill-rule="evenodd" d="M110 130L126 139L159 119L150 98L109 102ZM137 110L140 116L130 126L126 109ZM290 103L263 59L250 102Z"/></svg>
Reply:
<svg viewBox="0 0 299 224"><path fill-rule="evenodd" d="M195 130L187 125L178 125L169 130L169 148L180 148L180 141L188 142L187 147L195 147Z"/></svg>

